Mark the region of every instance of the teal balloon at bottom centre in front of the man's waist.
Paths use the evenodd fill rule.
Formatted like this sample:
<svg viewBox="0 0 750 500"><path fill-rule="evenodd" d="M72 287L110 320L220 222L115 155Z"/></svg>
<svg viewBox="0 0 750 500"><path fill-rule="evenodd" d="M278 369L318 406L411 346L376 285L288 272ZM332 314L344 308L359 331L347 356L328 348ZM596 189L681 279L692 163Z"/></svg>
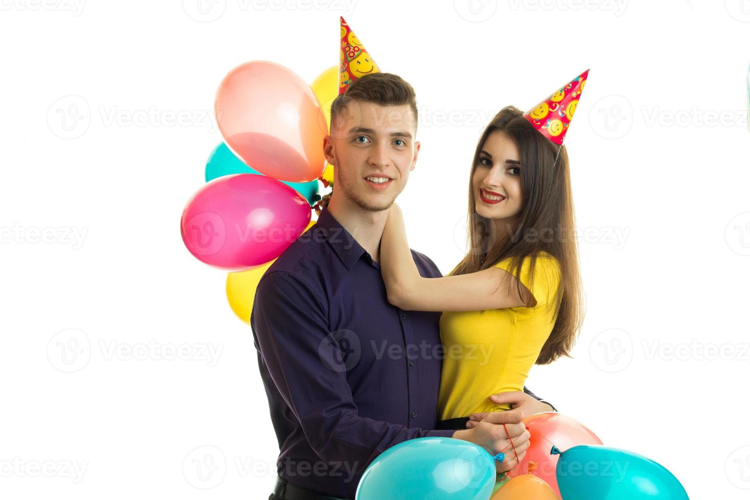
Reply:
<svg viewBox="0 0 750 500"><path fill-rule="evenodd" d="M356 500L487 500L496 472L484 448L460 439L410 439L380 454L357 487Z"/></svg>

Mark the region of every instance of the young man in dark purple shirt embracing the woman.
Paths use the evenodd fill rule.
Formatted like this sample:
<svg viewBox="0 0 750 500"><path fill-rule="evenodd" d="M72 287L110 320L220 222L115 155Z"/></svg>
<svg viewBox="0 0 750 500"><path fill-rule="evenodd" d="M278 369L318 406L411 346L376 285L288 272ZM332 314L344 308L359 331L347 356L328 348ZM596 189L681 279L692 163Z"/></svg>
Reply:
<svg viewBox="0 0 750 500"><path fill-rule="evenodd" d="M445 436L520 460L523 415L552 409L524 393L516 411L488 414L471 429L436 430L440 313L388 302L379 247L388 209L416 165L416 98L389 73L364 76L332 104L323 148L335 193L317 224L266 271L251 326L279 442L270 499L354 499L367 466L409 439ZM424 277L434 262L412 250ZM487 395L489 396L489 394ZM514 467L515 454L496 463Z"/></svg>

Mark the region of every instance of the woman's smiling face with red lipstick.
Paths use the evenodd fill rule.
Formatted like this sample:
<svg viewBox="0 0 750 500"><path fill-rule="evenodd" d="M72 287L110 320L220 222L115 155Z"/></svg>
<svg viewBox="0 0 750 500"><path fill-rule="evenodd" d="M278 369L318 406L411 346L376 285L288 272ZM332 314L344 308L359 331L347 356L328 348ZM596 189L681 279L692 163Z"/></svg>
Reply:
<svg viewBox="0 0 750 500"><path fill-rule="evenodd" d="M472 176L475 207L487 219L509 219L520 214L520 155L515 143L500 130L491 132L479 153Z"/></svg>

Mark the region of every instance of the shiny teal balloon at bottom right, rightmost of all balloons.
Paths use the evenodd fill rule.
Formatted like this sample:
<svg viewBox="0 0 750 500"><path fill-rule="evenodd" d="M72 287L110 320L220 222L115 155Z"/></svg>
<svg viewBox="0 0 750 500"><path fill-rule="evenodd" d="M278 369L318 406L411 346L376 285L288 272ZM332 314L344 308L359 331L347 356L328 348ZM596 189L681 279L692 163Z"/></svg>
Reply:
<svg viewBox="0 0 750 500"><path fill-rule="evenodd" d="M664 466L607 446L563 451L556 475L562 500L688 500L685 488Z"/></svg>

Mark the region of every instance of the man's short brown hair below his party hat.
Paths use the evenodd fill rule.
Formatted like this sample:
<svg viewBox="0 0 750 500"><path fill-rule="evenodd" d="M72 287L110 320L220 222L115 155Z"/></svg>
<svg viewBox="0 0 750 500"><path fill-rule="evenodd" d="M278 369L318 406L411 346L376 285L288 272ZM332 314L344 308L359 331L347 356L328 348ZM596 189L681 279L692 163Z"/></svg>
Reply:
<svg viewBox="0 0 750 500"><path fill-rule="evenodd" d="M331 103L331 124L341 115L341 111L353 100L362 103L375 103L380 106L403 106L408 104L417 121L417 98L414 88L401 76L393 73L371 73L354 80L344 94Z"/></svg>

